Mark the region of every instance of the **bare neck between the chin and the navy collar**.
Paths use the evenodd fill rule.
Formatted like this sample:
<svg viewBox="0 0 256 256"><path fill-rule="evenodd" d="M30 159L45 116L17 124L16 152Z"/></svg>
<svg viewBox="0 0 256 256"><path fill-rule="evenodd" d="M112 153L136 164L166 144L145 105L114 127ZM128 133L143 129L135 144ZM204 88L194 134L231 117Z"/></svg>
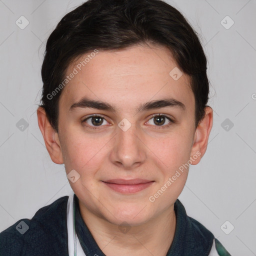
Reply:
<svg viewBox="0 0 256 256"><path fill-rule="evenodd" d="M173 205L146 223L137 226L123 226L110 223L90 212L79 201L81 216L102 252L122 256L166 256L172 243L176 217ZM125 229L129 228L129 229Z"/></svg>

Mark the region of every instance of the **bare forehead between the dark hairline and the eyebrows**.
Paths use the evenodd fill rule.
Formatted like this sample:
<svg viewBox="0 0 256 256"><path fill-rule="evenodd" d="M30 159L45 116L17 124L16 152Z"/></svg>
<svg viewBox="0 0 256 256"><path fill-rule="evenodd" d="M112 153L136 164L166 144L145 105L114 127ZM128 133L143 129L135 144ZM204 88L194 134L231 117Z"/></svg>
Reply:
<svg viewBox="0 0 256 256"><path fill-rule="evenodd" d="M60 105L70 107L86 96L123 110L168 96L191 108L194 97L189 76L183 73L173 79L172 70L177 68L171 52L163 46L87 52L69 65L66 75L75 74L61 92Z"/></svg>

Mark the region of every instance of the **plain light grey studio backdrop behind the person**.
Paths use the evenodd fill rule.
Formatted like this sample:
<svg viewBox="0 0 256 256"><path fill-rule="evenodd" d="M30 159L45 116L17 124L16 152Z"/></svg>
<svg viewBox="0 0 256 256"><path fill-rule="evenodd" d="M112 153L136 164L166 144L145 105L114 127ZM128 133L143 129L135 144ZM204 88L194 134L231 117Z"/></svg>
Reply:
<svg viewBox="0 0 256 256"><path fill-rule="evenodd" d="M200 34L213 127L179 196L235 255L256 255L256 1L169 0ZM81 0L0 0L0 231L71 190L37 124L45 41ZM21 21L20 21L21 20Z"/></svg>

